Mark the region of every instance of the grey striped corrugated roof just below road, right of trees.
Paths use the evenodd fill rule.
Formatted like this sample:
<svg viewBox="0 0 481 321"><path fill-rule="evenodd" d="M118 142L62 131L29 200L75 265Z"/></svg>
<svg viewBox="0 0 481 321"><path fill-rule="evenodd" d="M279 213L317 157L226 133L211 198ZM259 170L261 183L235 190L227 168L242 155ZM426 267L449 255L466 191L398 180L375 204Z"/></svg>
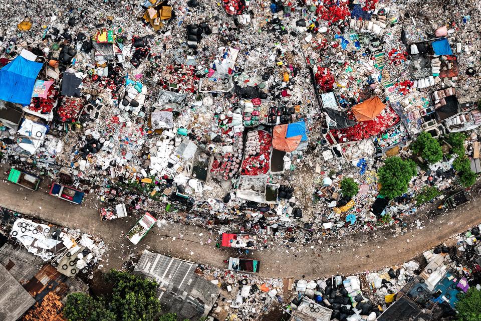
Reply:
<svg viewBox="0 0 481 321"><path fill-rule="evenodd" d="M196 268L195 263L145 250L135 271L159 284L163 310L183 320L207 315L219 295L216 285L195 274Z"/></svg>

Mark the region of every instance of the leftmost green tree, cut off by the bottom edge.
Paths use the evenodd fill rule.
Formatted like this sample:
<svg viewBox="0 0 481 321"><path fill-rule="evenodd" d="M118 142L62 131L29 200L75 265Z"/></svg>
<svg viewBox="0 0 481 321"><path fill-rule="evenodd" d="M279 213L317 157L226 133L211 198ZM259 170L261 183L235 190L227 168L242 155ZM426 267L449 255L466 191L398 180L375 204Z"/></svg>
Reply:
<svg viewBox="0 0 481 321"><path fill-rule="evenodd" d="M69 294L63 313L69 321L115 321L102 299L84 293Z"/></svg>

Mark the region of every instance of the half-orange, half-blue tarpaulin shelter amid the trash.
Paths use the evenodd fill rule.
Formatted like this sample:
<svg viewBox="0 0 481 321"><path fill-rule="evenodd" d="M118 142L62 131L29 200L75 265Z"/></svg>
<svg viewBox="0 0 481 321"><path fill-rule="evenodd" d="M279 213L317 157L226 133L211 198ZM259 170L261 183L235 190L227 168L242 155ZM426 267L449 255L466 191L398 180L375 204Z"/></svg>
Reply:
<svg viewBox="0 0 481 321"><path fill-rule="evenodd" d="M303 141L307 141L306 123L304 121L274 127L272 139L274 149L286 152L294 151Z"/></svg>

